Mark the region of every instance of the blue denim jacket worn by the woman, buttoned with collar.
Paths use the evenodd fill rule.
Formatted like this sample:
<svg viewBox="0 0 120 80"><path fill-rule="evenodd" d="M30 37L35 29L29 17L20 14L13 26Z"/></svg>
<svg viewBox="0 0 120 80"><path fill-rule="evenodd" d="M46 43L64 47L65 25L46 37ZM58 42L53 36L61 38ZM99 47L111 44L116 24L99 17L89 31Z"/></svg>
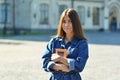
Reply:
<svg viewBox="0 0 120 80"><path fill-rule="evenodd" d="M51 61L51 55L55 53L56 48L67 49L67 60L70 72L54 71L51 68L55 62ZM64 37L52 38L45 49L42 56L43 68L47 72L51 72L50 80L81 80L79 72L85 67L88 59L88 44L86 40L79 40L73 37L71 41L65 44Z"/></svg>

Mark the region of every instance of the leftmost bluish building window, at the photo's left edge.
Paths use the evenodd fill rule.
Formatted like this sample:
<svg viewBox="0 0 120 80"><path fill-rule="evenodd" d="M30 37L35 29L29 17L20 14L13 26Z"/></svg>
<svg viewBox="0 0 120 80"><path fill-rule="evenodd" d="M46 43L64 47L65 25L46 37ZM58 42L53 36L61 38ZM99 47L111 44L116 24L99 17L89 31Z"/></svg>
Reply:
<svg viewBox="0 0 120 80"><path fill-rule="evenodd" d="M9 4L0 4L0 23L10 23L10 5Z"/></svg>

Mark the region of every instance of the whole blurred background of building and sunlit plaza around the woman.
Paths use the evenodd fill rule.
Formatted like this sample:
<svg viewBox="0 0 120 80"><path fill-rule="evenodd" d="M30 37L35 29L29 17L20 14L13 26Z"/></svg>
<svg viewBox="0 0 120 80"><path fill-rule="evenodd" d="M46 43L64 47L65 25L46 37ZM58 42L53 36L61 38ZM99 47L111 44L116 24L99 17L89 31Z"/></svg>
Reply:
<svg viewBox="0 0 120 80"><path fill-rule="evenodd" d="M0 0L0 80L48 80L41 56L74 8L89 44L83 80L120 78L120 0Z"/></svg>

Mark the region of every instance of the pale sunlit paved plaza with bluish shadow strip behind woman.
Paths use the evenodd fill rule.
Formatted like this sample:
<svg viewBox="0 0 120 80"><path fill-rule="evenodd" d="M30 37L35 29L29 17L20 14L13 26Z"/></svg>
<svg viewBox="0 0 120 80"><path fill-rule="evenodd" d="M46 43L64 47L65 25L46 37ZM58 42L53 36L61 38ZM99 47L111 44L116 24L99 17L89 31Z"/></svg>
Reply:
<svg viewBox="0 0 120 80"><path fill-rule="evenodd" d="M86 32L89 59L83 80L120 79L120 32ZM0 38L0 80L48 80L41 56L51 36Z"/></svg>

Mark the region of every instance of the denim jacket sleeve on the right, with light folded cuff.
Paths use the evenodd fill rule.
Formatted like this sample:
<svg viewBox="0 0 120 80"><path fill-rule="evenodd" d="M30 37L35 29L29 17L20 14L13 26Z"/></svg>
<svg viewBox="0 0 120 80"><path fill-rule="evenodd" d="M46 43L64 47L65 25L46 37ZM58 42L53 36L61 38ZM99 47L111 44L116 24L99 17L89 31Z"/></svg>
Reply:
<svg viewBox="0 0 120 80"><path fill-rule="evenodd" d="M88 44L82 40L78 46L78 56L76 59L68 59L69 69L73 72L82 72L88 59Z"/></svg>

